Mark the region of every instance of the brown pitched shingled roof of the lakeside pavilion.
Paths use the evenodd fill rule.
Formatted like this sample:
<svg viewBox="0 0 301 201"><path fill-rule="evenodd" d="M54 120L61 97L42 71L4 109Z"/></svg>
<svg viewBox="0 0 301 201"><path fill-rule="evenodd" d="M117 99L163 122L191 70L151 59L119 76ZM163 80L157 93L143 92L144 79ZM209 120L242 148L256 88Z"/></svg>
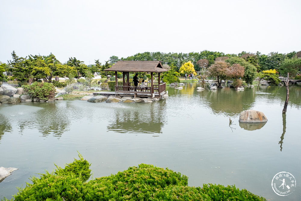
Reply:
<svg viewBox="0 0 301 201"><path fill-rule="evenodd" d="M162 73L168 70L162 67L160 61L117 61L104 71Z"/></svg>

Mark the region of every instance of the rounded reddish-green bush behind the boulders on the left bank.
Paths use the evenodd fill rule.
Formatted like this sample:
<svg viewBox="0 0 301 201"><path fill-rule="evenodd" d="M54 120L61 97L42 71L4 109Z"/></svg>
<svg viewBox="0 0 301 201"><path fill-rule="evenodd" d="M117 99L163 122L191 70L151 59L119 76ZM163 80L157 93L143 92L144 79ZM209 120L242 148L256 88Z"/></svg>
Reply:
<svg viewBox="0 0 301 201"><path fill-rule="evenodd" d="M54 98L55 87L48 82L34 82L31 85L22 85L25 93L31 95L33 98L41 100L48 100Z"/></svg>

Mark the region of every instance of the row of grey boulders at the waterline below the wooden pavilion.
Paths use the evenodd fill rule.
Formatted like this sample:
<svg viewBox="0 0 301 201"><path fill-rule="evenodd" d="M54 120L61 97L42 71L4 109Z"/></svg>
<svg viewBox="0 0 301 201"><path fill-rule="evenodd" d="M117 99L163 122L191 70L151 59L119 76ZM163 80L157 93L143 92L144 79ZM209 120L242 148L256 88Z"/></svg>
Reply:
<svg viewBox="0 0 301 201"><path fill-rule="evenodd" d="M166 94L166 96L168 96ZM158 101L158 98L140 98L140 97L120 97L111 95L108 98L106 96L84 96L81 100L85 100L88 102L107 102L107 103L115 103L115 102L137 102L137 103L150 103L153 101Z"/></svg>

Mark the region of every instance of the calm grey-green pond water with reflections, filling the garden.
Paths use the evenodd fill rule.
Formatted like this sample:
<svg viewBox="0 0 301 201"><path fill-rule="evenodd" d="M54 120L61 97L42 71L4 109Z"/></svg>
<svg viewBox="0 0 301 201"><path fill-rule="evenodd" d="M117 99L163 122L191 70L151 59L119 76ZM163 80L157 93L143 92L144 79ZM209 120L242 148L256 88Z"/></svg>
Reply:
<svg viewBox="0 0 301 201"><path fill-rule="evenodd" d="M35 173L78 159L92 177L109 176L141 163L188 176L189 186L233 185L266 199L299 200L300 187L278 196L272 179L289 172L301 181L301 86L290 86L282 115L284 86L235 91L197 91L167 87L169 97L146 103L90 103L62 100L0 106L0 166L19 168L0 183L0 199L17 193ZM255 109L268 118L250 127L241 111ZM229 126L229 118L233 124Z"/></svg>

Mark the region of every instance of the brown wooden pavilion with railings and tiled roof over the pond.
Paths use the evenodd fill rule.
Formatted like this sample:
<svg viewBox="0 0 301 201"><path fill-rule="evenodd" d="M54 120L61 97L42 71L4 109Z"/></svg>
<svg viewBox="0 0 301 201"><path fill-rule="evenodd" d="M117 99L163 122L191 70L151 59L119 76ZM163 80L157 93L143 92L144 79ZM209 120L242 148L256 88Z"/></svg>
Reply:
<svg viewBox="0 0 301 201"><path fill-rule="evenodd" d="M147 96L160 97L166 93L166 83L160 83L160 73L168 71L164 69L160 61L117 61L111 68L104 71L115 71L115 94L119 96ZM123 73L123 84L118 85L117 72ZM151 80L147 86L129 82L129 72L151 73ZM158 73L158 82L154 82L153 73Z"/></svg>

